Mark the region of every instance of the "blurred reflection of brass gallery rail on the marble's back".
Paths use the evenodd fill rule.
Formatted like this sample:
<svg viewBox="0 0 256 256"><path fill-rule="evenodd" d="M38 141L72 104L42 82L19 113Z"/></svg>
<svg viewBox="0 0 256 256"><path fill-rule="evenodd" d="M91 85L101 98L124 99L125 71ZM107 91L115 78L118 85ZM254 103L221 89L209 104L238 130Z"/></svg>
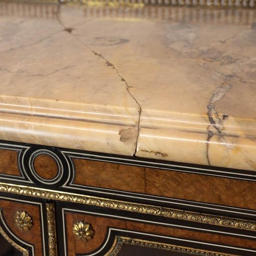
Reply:
<svg viewBox="0 0 256 256"><path fill-rule="evenodd" d="M255 0L256 1L256 0ZM0 0L1 3L1 0ZM73 7L72 7L73 8ZM74 8L78 8L74 6ZM117 20L173 20L175 22L251 25L256 22L256 8L182 8L172 6L88 6L79 9L85 18ZM55 19L62 9L52 4L5 3L0 5L0 15Z"/></svg>

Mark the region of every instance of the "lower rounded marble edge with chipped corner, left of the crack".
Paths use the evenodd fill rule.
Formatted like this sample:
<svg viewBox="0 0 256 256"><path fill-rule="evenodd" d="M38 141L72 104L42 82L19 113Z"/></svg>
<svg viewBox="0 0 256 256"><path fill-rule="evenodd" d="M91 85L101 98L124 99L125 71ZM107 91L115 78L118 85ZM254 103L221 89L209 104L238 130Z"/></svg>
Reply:
<svg viewBox="0 0 256 256"><path fill-rule="evenodd" d="M0 113L0 139L133 156L138 126Z"/></svg>

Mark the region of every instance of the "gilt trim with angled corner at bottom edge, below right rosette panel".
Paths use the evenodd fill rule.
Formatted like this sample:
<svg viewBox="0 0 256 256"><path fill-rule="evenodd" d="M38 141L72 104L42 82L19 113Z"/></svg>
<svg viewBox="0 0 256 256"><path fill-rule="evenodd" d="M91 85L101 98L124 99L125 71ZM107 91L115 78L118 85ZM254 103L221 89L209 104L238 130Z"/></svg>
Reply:
<svg viewBox="0 0 256 256"><path fill-rule="evenodd" d="M142 246L142 247L175 251L175 252L182 252L182 253L187 253L187 254L191 254L191 255L237 256L235 254L225 254L225 253L221 253L221 252L201 250L201 249L195 249L195 248L190 248L190 247L177 246L177 245L172 245L172 244L165 244L165 243L152 242L152 241L146 241L146 240L141 240L141 239L119 237L119 236L115 237L113 246L104 256L116 256L118 254L118 252L121 250L123 244L137 245L137 246Z"/></svg>

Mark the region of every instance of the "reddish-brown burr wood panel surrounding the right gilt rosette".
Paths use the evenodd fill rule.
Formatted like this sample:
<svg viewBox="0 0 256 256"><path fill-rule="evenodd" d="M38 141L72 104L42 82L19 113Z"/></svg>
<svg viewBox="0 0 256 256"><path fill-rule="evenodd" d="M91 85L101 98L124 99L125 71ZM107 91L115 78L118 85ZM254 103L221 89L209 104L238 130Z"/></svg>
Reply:
<svg viewBox="0 0 256 256"><path fill-rule="evenodd" d="M163 227L70 212L66 212L65 216L69 256L75 256L77 253L89 253L99 248L105 241L108 227L120 228L124 230L136 230L145 233L154 233L173 238L189 239L193 241L203 241L209 242L211 244L256 248L256 244L252 240L233 238L230 236L221 236L219 234ZM93 239L86 243L76 239L72 232L72 227L76 222L79 221L86 221L87 223L90 223L94 230Z"/></svg>

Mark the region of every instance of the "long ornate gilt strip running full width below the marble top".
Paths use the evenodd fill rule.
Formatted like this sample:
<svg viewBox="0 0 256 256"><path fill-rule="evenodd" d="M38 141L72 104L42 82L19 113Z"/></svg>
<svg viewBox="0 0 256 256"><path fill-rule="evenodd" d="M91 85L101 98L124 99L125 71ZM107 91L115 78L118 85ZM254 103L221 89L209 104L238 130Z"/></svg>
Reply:
<svg viewBox="0 0 256 256"><path fill-rule="evenodd" d="M184 211L168 207L159 207L148 204L136 204L121 200L93 197L75 193L67 193L52 189L42 189L31 186L15 185L0 182L0 192L55 201L70 202L84 205L93 205L103 208L137 212L139 214L161 216L170 219L179 219L198 223L207 223L216 226L225 226L243 230L256 231L256 222L245 219L234 219L224 216L201 214L194 211Z"/></svg>

